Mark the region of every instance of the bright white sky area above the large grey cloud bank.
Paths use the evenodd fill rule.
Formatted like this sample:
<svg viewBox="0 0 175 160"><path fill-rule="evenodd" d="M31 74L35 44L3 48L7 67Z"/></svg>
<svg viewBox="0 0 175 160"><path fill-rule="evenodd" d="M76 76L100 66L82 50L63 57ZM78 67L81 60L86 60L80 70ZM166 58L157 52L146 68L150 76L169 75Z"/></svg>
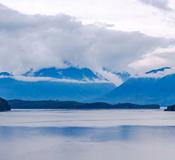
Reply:
<svg viewBox="0 0 175 160"><path fill-rule="evenodd" d="M121 31L139 31L151 36L174 37L174 12L148 7L141 0L0 0L25 14L75 16L84 24L112 24L109 28ZM166 0L142 0L166 8ZM164 2L165 1L165 2ZM148 4L148 3L147 3ZM174 0L168 7L175 8Z"/></svg>

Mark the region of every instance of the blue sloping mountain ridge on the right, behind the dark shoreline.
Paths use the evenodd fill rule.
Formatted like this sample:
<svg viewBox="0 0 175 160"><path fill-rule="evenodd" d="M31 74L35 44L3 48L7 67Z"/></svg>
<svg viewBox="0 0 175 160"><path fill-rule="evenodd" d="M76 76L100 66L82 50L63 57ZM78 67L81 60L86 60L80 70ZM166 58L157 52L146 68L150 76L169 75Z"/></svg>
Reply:
<svg viewBox="0 0 175 160"><path fill-rule="evenodd" d="M131 78L104 95L104 102L171 105L175 103L175 74L163 78Z"/></svg>

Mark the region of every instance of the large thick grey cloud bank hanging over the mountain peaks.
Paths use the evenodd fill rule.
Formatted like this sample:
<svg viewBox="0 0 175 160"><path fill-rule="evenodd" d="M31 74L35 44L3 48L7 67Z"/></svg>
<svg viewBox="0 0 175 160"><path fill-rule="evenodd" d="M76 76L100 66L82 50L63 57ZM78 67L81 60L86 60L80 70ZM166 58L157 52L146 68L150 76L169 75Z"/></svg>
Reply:
<svg viewBox="0 0 175 160"><path fill-rule="evenodd" d="M132 70L129 64L170 43L139 32L83 25L67 15L23 15L0 6L1 71L62 67L64 61L96 71Z"/></svg>

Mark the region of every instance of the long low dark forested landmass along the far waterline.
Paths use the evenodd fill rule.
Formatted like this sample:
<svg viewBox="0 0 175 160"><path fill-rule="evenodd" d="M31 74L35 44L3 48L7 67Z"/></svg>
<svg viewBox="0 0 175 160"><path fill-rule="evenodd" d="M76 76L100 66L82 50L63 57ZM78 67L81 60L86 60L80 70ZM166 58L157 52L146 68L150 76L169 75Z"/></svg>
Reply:
<svg viewBox="0 0 175 160"><path fill-rule="evenodd" d="M108 104L103 102L80 103L75 101L23 101L10 100L13 109L160 109L159 105L137 105L130 103Z"/></svg>

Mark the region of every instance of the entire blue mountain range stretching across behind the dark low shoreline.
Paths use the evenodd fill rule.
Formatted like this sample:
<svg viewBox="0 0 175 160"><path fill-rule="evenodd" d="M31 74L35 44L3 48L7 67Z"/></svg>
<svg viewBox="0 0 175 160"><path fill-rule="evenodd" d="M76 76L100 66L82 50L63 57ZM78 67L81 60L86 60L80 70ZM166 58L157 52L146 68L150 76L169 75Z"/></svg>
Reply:
<svg viewBox="0 0 175 160"><path fill-rule="evenodd" d="M145 75L169 69L155 69ZM2 72L0 96L6 99L101 101L162 106L175 103L175 74L156 78L133 77L127 72L111 73L121 78L123 83L116 86L100 73L73 66L31 69L20 76Z"/></svg>

